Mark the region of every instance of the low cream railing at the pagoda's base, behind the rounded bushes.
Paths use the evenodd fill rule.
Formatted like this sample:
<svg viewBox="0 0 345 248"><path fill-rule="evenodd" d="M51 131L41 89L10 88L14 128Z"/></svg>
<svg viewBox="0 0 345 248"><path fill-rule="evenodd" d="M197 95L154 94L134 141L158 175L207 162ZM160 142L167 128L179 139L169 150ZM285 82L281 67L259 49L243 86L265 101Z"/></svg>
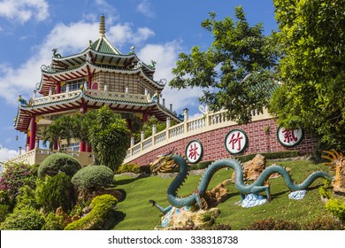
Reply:
<svg viewBox="0 0 345 248"><path fill-rule="evenodd" d="M34 150L27 151L17 158L9 159L7 162L16 162L16 163L27 163L29 165L41 164L41 162L47 158L51 153L57 151L50 151L47 149L35 148ZM79 151L63 151L75 159L78 159L81 166L87 166L93 163L92 153L90 152L79 152Z"/></svg>

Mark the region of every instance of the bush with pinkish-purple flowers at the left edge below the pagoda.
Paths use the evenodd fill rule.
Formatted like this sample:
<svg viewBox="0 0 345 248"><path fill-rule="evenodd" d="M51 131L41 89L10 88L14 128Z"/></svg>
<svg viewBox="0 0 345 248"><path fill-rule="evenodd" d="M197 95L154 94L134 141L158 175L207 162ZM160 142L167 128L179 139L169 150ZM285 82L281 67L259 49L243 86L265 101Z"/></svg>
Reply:
<svg viewBox="0 0 345 248"><path fill-rule="evenodd" d="M37 166L11 162L5 163L4 167L5 170L0 177L0 204L13 207L20 187L35 187Z"/></svg>

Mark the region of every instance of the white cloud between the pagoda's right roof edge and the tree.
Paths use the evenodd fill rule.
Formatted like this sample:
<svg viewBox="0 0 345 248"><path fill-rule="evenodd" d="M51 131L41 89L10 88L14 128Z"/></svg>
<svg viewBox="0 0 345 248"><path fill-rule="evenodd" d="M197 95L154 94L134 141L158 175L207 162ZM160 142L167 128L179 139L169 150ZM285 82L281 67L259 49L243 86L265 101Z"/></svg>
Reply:
<svg viewBox="0 0 345 248"><path fill-rule="evenodd" d="M148 44L138 53L138 57L145 63L150 64L150 60L157 62L155 80L165 78L166 81L173 79L172 69L176 66L180 53L180 42L174 41L165 44ZM188 106L192 112L196 112L199 107L198 97L203 96L203 90L199 88L171 89L167 84L162 92L166 105L173 104L173 110L182 112Z"/></svg>

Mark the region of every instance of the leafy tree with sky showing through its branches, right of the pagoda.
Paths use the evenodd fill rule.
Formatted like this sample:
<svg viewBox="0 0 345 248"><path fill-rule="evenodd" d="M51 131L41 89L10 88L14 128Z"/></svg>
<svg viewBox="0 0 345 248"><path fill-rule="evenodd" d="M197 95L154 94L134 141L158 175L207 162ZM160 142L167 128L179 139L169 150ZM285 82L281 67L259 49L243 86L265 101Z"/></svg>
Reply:
<svg viewBox="0 0 345 248"><path fill-rule="evenodd" d="M241 6L235 8L235 17L237 21L217 21L216 13L210 13L202 27L212 33L214 42L206 51L196 46L190 54L180 53L170 86L201 87L200 101L211 110L225 108L231 119L248 123L252 111L261 112L269 103L278 50L274 37L263 34L261 23L249 27Z"/></svg>

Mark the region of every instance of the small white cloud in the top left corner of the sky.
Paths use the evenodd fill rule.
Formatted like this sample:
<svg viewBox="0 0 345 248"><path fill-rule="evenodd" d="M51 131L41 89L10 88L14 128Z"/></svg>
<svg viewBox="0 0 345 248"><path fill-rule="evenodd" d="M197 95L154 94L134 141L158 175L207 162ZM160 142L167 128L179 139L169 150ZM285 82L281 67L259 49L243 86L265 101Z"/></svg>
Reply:
<svg viewBox="0 0 345 248"><path fill-rule="evenodd" d="M25 23L29 19L48 19L49 4L45 0L3 0L0 1L0 17Z"/></svg>

